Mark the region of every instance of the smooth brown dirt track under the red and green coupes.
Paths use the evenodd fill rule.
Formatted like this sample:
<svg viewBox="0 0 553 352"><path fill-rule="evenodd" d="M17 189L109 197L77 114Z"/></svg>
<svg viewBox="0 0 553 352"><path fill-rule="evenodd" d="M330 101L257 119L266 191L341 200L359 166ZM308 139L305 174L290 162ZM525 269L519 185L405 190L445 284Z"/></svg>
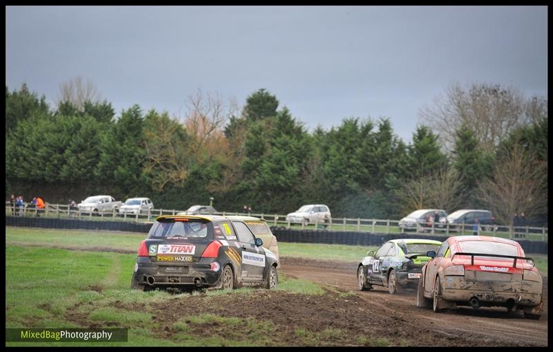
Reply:
<svg viewBox="0 0 553 352"><path fill-rule="evenodd" d="M415 306L415 290L403 295L390 295L386 288L357 290L356 263L340 266L296 258L282 258L281 270L290 277L309 279L336 288L351 290L359 297L359 308L366 311L370 324L395 324L388 327L405 335L413 344L426 344L424 336L435 339L438 346L547 346L547 279L544 279L544 311L541 319L509 317L505 308L459 307L445 313ZM379 323L382 322L382 323ZM424 329L421 330L421 328ZM426 331L425 331L426 330Z"/></svg>

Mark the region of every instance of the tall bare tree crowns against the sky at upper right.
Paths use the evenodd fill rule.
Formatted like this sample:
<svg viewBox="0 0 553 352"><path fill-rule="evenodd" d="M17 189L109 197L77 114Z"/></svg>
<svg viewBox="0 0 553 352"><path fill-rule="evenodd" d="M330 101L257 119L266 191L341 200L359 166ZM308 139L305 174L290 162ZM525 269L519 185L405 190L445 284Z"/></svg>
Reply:
<svg viewBox="0 0 553 352"><path fill-rule="evenodd" d="M432 106L424 106L419 115L438 131L444 149L451 151L455 131L468 124L485 151L494 151L500 140L522 124L547 115L547 100L541 97L525 99L513 88L499 85L471 84L463 89L451 84L445 96L435 98Z"/></svg>

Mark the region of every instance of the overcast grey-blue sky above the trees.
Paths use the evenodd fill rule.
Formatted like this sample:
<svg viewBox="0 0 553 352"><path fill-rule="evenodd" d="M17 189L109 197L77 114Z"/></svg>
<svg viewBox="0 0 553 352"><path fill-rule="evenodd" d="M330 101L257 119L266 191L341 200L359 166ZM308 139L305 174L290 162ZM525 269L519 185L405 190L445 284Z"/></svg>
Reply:
<svg viewBox="0 0 553 352"><path fill-rule="evenodd" d="M6 85L50 102L88 77L118 114L171 114L187 95L268 89L295 118L329 129L391 118L411 141L424 104L451 82L547 96L547 8L6 7Z"/></svg>

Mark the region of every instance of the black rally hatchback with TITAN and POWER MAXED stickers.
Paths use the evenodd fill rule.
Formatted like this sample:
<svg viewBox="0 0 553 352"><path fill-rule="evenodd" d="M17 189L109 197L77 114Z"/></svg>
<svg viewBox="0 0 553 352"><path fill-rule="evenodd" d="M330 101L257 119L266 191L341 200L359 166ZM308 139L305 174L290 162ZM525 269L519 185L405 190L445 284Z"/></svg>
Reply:
<svg viewBox="0 0 553 352"><path fill-rule="evenodd" d="M138 248L131 288L274 288L277 257L262 244L225 216L159 216Z"/></svg>

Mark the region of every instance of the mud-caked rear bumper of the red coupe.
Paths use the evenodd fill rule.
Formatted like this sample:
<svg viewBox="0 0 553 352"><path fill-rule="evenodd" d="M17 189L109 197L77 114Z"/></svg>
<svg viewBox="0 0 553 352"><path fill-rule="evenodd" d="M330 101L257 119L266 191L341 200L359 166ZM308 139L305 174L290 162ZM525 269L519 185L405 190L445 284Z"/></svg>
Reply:
<svg viewBox="0 0 553 352"><path fill-rule="evenodd" d="M541 306L542 283L537 281L467 281L465 277L446 276L442 298L469 302L476 297L483 306Z"/></svg>

